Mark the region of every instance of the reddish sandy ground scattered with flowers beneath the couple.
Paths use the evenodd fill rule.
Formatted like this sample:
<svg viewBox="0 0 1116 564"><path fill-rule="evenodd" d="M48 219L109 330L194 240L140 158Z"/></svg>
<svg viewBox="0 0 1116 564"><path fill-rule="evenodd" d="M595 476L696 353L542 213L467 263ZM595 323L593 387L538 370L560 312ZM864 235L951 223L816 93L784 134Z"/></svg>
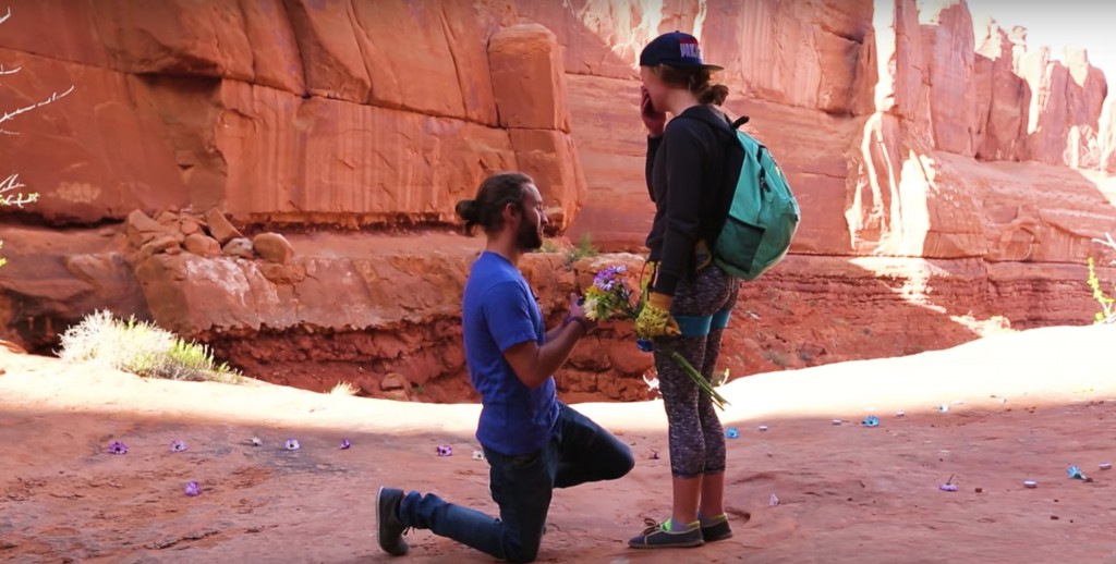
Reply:
<svg viewBox="0 0 1116 564"><path fill-rule="evenodd" d="M662 406L578 405L638 463L559 490L540 561L1116 563L1116 470L1098 468L1116 463L1114 338L1037 329L733 381L737 535L694 550L625 547L645 517L667 515ZM478 406L143 380L3 348L0 369L0 561L492 562L429 532L397 560L375 541L382 484L494 510L488 467L470 456ZM859 425L868 415L879 427ZM301 448L283 450L287 438ZM108 454L114 440L129 453ZM1093 480L1070 479L1070 465ZM951 477L958 490L940 490ZM191 480L201 495L184 495Z"/></svg>

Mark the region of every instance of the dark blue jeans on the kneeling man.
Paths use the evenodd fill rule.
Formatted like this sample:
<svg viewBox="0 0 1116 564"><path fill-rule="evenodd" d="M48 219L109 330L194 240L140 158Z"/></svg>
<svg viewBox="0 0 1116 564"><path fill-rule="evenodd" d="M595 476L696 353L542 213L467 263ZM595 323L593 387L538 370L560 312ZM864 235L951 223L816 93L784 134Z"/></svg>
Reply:
<svg viewBox="0 0 1116 564"><path fill-rule="evenodd" d="M554 488L617 479L635 466L632 450L589 418L559 403L554 437L545 448L506 456L484 449L489 489L500 518L444 502L434 494L411 492L400 505L400 519L510 562L531 562L539 554Z"/></svg>

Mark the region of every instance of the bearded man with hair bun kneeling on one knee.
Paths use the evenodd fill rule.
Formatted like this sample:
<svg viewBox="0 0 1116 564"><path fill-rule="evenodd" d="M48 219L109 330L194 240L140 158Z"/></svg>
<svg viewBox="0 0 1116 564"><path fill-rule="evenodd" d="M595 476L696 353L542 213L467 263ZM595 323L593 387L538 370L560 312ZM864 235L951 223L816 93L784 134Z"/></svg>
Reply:
<svg viewBox="0 0 1116 564"><path fill-rule="evenodd" d="M400 556L408 527L430 529L497 558L530 562L539 553L555 488L617 479L635 465L631 449L558 401L554 372L594 329L576 295L549 331L519 259L542 245L542 197L521 173L485 179L474 200L458 204L465 232L488 243L473 263L463 299L465 359L481 396L477 439L489 461L489 488L500 518L446 503L434 494L379 488L379 546Z"/></svg>

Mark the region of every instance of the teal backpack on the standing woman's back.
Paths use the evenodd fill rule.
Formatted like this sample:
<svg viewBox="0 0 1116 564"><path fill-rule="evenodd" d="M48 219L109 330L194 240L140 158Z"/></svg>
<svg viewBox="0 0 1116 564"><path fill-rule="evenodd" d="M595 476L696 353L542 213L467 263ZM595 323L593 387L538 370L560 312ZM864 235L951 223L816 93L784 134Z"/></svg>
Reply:
<svg viewBox="0 0 1116 564"><path fill-rule="evenodd" d="M713 262L729 274L756 280L787 255L801 213L771 153L740 130L747 123L744 116L732 124L744 161L729 215L711 251Z"/></svg>

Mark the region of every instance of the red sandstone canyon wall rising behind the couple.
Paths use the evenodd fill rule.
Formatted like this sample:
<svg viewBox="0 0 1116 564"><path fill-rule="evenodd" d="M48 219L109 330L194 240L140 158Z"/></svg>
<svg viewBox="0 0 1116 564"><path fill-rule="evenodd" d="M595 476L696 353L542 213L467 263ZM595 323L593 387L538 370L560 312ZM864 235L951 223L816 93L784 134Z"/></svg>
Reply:
<svg viewBox="0 0 1116 564"><path fill-rule="evenodd" d="M791 257L745 284L733 373L1086 323L1083 264L1114 257L1091 241L1116 221L1104 74L1084 50L1054 60L1026 30L974 22L963 0L10 6L0 62L20 72L0 109L75 86L4 124L19 136L0 177L41 197L0 216L0 337L36 350L108 308L273 381L376 395L396 373L466 397L456 308L479 242L451 234L453 204L519 168L551 235L639 253L635 61L674 29L725 67L727 110L752 118L802 207ZM294 256L199 254L182 230L145 251L155 236L125 228L137 210L166 225L215 211L287 234ZM608 260L638 265L557 252L526 270L557 319ZM637 397L650 360L629 332L593 342L564 391Z"/></svg>

